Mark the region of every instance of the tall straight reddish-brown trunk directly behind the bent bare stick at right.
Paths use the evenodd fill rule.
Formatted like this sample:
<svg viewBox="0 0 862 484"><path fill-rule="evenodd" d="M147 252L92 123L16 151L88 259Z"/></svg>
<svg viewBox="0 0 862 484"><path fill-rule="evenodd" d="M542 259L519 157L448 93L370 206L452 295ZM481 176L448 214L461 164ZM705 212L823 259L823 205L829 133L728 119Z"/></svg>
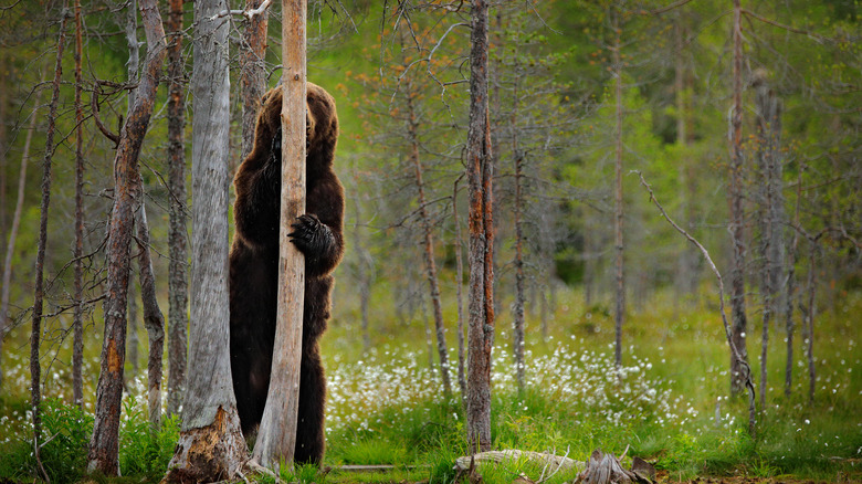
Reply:
<svg viewBox="0 0 862 484"><path fill-rule="evenodd" d="M730 186L728 201L730 204L730 337L743 360L748 361L746 346L747 319L745 315L745 242L743 240L743 39L742 7L739 0L734 0L733 27L733 99L730 111ZM730 355L730 394L736 396L743 390L743 369L734 355Z"/></svg>

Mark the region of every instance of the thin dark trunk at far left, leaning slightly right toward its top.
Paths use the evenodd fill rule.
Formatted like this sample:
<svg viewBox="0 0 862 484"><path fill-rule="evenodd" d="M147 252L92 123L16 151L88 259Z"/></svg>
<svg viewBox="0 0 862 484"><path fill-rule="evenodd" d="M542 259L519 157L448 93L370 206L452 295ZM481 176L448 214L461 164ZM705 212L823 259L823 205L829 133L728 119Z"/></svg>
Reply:
<svg viewBox="0 0 862 484"><path fill-rule="evenodd" d="M54 154L54 130L56 120L56 107L60 102L60 81L63 75L63 49L66 42L66 19L63 13L60 21L60 33L56 41L56 63L54 66L54 81L52 83L51 104L48 114L48 133L45 135L45 158L42 162L42 203L39 212L39 243L35 262L35 291L33 296L33 325L30 333L30 410L33 418L33 453L39 462L39 467L45 481L51 481L42 467L40 460L40 439L42 438L42 367L39 361L39 345L42 334L42 299L44 296L44 265L45 246L48 245L48 210L51 203L51 160Z"/></svg>

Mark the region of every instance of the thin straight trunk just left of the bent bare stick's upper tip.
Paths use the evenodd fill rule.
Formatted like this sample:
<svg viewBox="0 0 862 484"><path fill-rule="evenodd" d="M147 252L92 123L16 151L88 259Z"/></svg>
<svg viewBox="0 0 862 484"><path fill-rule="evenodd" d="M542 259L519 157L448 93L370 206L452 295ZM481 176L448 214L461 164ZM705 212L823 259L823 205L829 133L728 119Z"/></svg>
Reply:
<svg viewBox="0 0 862 484"><path fill-rule="evenodd" d="M614 190L613 190L613 238L617 255L617 305L613 315L616 339L613 361L617 369L622 366L622 323L626 317L626 277L623 273L623 245L622 245L622 61L620 60L620 25L621 12L614 11L612 15L613 28L613 76L616 77L614 92L617 98L616 111L616 162L613 164Z"/></svg>

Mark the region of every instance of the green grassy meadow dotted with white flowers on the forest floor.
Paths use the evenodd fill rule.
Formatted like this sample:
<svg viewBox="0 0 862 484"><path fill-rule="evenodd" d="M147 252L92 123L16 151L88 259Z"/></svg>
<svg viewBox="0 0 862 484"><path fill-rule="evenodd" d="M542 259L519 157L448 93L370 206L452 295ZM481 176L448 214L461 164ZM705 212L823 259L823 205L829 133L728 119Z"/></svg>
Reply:
<svg viewBox="0 0 862 484"><path fill-rule="evenodd" d="M283 477L301 482L451 482L455 457L467 453L464 412L454 365L456 319L446 306L454 394L446 399L437 367L430 368L421 314L397 322L390 288L372 295L372 349L359 343L358 302L340 287L324 337L327 367L326 474L301 467ZM717 299L702 293L674 304L660 294L632 308L623 341L623 368L613 369L613 325L601 305L585 307L579 292L560 290L543 340L537 311L527 313L526 390L518 394L511 356L511 318L503 301L494 349L492 427L494 448L550 451L586 460L593 449L639 455L655 463L661 480L698 476L862 480L862 350L856 316L862 295L838 297L816 322L817 393L807 398L802 338L796 337L793 387L784 394L782 328L769 339L766 409L758 407L757 435L747 431L745 399L728 396L728 350ZM750 306L749 306L750 307ZM756 324L756 309L749 325ZM71 406L71 340L43 348L43 465L52 482L78 482L93 423L98 325L86 348L84 409ZM0 478L32 482L36 465L29 422L29 348L24 330L7 341L0 400ZM141 341L146 335L140 334ZM11 339L11 338L10 338ZM755 381L760 335L749 338ZM143 343L141 343L143 345ZM143 357L141 357L143 358ZM141 367L143 367L141 362ZM127 367L127 370L130 369ZM128 373L127 373L128 375ZM122 482L154 482L165 472L179 434L176 418L161 431L147 425L145 376L128 375L120 429ZM343 472L348 464L390 464L387 472ZM483 467L488 483L509 483L519 473L538 480L528 462ZM558 473L548 482L575 478ZM260 476L261 482L274 482ZM8 481L7 481L8 482ZM115 481L112 481L115 482Z"/></svg>

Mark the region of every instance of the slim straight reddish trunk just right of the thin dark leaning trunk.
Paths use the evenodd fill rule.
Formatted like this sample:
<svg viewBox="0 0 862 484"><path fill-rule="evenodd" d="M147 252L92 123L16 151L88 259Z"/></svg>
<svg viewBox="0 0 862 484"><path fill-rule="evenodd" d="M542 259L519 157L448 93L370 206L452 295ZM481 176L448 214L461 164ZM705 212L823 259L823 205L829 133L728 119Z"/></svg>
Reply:
<svg viewBox="0 0 862 484"><path fill-rule="evenodd" d="M84 42L81 27L81 0L75 0L75 308L72 315L72 398L84 406L84 108L81 102L83 76L81 59Z"/></svg>

